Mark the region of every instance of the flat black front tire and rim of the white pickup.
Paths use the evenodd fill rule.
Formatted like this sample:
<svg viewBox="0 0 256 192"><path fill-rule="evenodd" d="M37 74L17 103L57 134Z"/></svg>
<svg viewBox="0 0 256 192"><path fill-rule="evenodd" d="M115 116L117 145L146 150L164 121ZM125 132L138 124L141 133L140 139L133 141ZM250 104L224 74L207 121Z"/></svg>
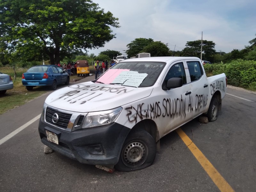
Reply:
<svg viewBox="0 0 256 192"><path fill-rule="evenodd" d="M136 171L150 166L156 157L156 142L143 129L131 131L115 165L118 171Z"/></svg>

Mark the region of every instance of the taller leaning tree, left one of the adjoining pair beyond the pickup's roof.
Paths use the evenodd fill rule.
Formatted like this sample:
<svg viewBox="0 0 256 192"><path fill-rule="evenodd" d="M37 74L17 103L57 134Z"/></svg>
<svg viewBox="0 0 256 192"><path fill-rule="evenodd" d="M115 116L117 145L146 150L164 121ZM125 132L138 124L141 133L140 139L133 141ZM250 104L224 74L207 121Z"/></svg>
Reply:
<svg viewBox="0 0 256 192"><path fill-rule="evenodd" d="M149 38L136 38L131 43L127 44L126 47L128 48L126 50L127 57L133 57L136 56L138 53L142 51L142 49L147 46L148 44L154 42L153 39Z"/></svg>

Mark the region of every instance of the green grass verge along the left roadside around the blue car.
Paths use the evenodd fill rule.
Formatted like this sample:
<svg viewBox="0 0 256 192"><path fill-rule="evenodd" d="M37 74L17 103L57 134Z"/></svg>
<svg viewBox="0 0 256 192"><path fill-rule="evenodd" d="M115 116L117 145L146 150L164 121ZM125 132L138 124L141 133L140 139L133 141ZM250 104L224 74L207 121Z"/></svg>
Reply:
<svg viewBox="0 0 256 192"><path fill-rule="evenodd" d="M45 86L37 86L34 87L32 91L28 91L21 83L22 73L27 71L26 68L15 68L17 74L16 79L14 79L14 70L12 67L1 67L0 71L10 75L13 81L13 89L9 89L5 94L0 95L0 115L51 91L49 87ZM81 77L71 76L70 82L80 79Z"/></svg>

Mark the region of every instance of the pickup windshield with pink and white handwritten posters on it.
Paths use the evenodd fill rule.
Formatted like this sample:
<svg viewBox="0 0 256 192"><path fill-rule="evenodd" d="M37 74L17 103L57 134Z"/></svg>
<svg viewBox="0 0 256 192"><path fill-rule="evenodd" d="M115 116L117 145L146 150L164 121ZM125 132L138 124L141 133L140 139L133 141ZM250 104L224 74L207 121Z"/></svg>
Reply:
<svg viewBox="0 0 256 192"><path fill-rule="evenodd" d="M97 80L104 84L120 84L132 87L149 87L156 83L166 63L120 62Z"/></svg>

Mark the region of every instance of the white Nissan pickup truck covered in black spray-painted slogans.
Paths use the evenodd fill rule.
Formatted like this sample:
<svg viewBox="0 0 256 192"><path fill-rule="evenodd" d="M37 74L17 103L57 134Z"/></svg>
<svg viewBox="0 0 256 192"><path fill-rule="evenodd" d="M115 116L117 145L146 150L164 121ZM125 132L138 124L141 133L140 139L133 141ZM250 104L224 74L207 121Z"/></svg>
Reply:
<svg viewBox="0 0 256 192"><path fill-rule="evenodd" d="M38 130L45 145L81 163L139 170L164 135L202 114L216 120L226 89L225 74L207 78L196 57L127 59L52 92Z"/></svg>

